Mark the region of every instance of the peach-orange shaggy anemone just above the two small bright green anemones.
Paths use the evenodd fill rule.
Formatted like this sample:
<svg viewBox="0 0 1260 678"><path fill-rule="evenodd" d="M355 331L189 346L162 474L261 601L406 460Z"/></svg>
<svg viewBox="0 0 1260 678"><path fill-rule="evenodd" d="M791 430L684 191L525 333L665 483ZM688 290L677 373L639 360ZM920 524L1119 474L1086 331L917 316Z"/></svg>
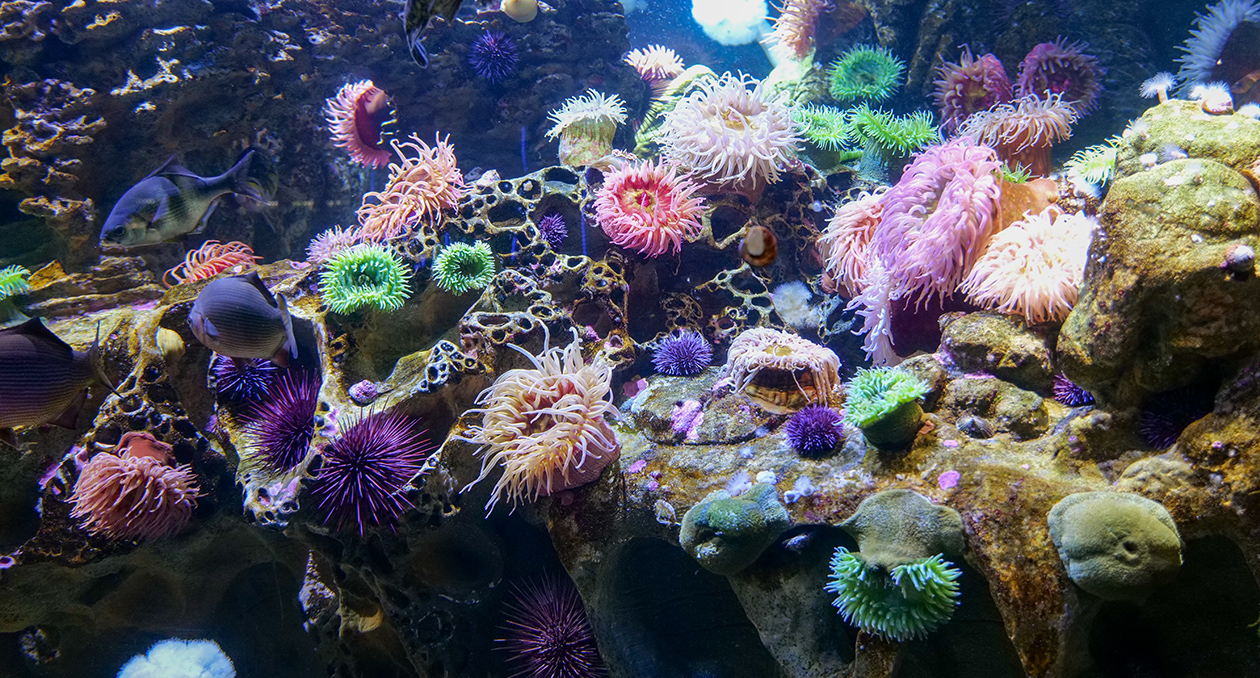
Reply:
<svg viewBox="0 0 1260 678"><path fill-rule="evenodd" d="M398 163L389 165L389 183L381 193L367 193L358 210L364 241L402 236L412 227L437 223L444 209L455 209L464 197L464 174L455 165L455 149L444 139L430 146L416 135L411 141L389 142ZM413 151L415 156L408 156ZM372 200L369 203L369 200Z"/></svg>

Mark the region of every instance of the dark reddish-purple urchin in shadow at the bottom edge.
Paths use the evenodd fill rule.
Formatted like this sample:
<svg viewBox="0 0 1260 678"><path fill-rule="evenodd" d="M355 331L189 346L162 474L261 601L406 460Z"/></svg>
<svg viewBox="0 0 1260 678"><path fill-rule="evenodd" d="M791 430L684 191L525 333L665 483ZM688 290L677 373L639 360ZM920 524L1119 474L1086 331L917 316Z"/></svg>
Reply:
<svg viewBox="0 0 1260 678"><path fill-rule="evenodd" d="M593 678L606 675L595 646L591 623L573 585L553 578L517 586L507 604L512 675L527 678Z"/></svg>

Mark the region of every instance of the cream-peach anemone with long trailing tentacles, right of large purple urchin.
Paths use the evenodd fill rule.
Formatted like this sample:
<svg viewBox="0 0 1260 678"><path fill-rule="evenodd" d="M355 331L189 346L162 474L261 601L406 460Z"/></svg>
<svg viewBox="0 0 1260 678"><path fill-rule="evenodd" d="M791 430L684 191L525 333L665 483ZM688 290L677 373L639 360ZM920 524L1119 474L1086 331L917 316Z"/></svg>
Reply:
<svg viewBox="0 0 1260 678"><path fill-rule="evenodd" d="M547 344L541 355L509 344L533 368L510 369L483 391L480 407L469 411L481 415L481 423L459 437L479 445L481 456L481 475L464 491L503 466L486 513L500 499L515 509L520 502L585 485L620 454L605 418L616 416L609 399L612 365L602 355L586 362L577 333L567 347Z"/></svg>

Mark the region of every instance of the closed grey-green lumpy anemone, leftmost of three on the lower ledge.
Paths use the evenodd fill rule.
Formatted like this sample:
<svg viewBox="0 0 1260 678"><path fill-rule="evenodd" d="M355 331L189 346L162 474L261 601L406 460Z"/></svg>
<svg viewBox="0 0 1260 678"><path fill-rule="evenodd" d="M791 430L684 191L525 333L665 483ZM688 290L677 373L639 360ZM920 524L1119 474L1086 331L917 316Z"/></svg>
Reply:
<svg viewBox="0 0 1260 678"><path fill-rule="evenodd" d="M678 542L701 567L714 575L735 575L791 527L779 490L757 483L738 497L709 493L683 515Z"/></svg>

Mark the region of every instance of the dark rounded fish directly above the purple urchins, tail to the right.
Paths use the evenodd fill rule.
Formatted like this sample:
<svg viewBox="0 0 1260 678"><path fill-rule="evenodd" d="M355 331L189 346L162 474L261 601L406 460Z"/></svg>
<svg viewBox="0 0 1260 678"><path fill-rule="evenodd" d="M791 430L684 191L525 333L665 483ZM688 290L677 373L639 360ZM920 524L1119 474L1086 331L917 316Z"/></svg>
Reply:
<svg viewBox="0 0 1260 678"><path fill-rule="evenodd" d="M289 305L267 290L257 271L207 285L193 302L188 325L220 355L271 358L281 367L297 358Z"/></svg>

